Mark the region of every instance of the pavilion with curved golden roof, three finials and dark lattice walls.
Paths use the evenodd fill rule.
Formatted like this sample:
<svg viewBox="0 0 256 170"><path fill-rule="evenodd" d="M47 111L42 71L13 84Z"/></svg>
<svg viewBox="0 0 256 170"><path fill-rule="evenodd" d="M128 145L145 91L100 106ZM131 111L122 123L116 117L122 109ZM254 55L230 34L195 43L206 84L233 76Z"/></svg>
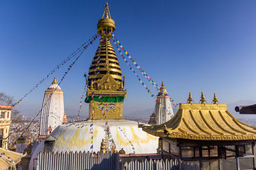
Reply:
<svg viewBox="0 0 256 170"><path fill-rule="evenodd" d="M179 111L168 122L144 125L143 131L160 137L163 159L180 159L201 169L255 169L256 127L244 124L227 110L227 104L179 104Z"/></svg>

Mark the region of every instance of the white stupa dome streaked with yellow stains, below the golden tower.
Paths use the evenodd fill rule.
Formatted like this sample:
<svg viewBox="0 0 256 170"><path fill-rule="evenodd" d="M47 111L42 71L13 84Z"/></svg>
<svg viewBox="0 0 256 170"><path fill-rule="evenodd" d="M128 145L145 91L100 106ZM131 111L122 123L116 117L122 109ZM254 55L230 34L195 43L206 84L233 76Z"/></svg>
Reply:
<svg viewBox="0 0 256 170"><path fill-rule="evenodd" d="M125 153L156 153L158 138L142 131L138 127L138 122L124 119L108 120L109 134L106 132L105 120L93 120L93 134L90 133L90 125L91 120L86 120L56 127L49 135L55 139L52 151L99 152L102 139L105 139L108 147L112 145L108 139L112 138L117 151L123 148ZM110 147L108 148L110 150Z"/></svg>

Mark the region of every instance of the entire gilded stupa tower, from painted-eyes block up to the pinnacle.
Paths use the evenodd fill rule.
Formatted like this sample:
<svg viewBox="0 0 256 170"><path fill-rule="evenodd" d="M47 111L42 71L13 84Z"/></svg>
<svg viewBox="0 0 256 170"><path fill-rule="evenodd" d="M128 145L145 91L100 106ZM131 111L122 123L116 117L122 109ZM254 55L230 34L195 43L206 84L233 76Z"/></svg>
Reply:
<svg viewBox="0 0 256 170"><path fill-rule="evenodd" d="M101 36L88 73L86 103L90 103L90 118L101 119L106 111L107 118L123 118L123 102L126 96L124 78L111 45L111 34L115 31L115 22L111 19L108 3L97 24L97 32Z"/></svg>

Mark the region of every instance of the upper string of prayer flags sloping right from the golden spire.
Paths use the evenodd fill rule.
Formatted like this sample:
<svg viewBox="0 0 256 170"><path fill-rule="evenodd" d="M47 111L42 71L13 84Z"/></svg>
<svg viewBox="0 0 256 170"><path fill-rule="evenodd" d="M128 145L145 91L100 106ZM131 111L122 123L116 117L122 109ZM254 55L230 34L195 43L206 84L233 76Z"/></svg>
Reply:
<svg viewBox="0 0 256 170"><path fill-rule="evenodd" d="M156 82L154 82L152 80L152 78L150 78L148 76L148 74L145 73L145 71L143 71L143 69L139 66L138 62L136 62L132 57L131 55L129 55L129 53L127 52L127 50L125 50L124 46L120 43L120 41L118 41L118 39L116 39L116 36L114 34L112 34L111 38L113 39L114 43L115 43L115 46L116 48L118 48L118 51L119 50L123 50L124 53L121 54L121 56L127 56L129 58L129 60L131 60L132 64L134 64L134 66L136 66L138 68L138 70L141 72L141 74L143 74L143 76L145 76L145 78L154 86L156 87L157 90L159 90L159 87L157 85Z"/></svg>

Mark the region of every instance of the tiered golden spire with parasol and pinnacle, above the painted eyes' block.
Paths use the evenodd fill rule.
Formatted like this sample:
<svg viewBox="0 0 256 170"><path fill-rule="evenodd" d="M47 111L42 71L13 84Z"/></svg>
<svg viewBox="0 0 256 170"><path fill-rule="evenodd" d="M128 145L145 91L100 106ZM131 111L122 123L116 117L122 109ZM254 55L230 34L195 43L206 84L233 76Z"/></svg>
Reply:
<svg viewBox="0 0 256 170"><path fill-rule="evenodd" d="M92 80L97 81L105 74L109 73L117 81L118 89L122 89L122 71L119 66L115 50L110 41L111 33L115 31L115 22L110 17L108 3L105 5L104 13L97 24L97 28L97 32L102 36L102 44L97 49L97 51L100 50L100 56L98 56L97 52L95 53L92 64L89 68L89 86L91 86ZM98 57L100 57L100 62L98 64L99 74L96 71Z"/></svg>

